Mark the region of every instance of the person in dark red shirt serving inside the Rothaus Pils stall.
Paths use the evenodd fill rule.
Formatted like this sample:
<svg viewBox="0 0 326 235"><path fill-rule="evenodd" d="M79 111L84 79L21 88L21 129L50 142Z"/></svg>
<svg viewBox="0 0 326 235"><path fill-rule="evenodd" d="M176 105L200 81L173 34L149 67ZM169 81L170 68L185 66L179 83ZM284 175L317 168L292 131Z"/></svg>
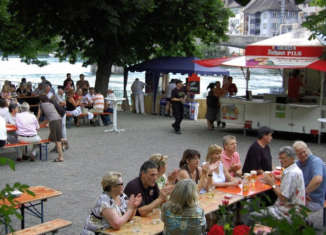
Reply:
<svg viewBox="0 0 326 235"><path fill-rule="evenodd" d="M290 77L288 81L287 103L299 102L300 86L306 87L306 84L302 82L301 77L300 70L293 69L292 77Z"/></svg>

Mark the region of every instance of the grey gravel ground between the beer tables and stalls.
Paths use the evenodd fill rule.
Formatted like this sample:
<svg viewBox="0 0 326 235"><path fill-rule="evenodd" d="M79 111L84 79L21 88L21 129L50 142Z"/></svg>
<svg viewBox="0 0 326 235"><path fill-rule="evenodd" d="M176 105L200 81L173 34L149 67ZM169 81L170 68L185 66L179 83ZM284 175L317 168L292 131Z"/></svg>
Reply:
<svg viewBox="0 0 326 235"><path fill-rule="evenodd" d="M79 128L72 123L67 129L69 150L64 153L64 162L55 163L52 160L58 154L49 153L48 161L16 162L16 170L8 166L0 166L0 188L15 182L30 186L44 185L63 194L49 198L44 203L45 221L62 218L72 221L72 226L59 230L59 234L79 234L85 218L91 211L92 203L101 190L101 179L107 171L122 173L126 184L139 174L143 162L154 153L167 155L168 170L178 168L184 150L196 149L201 153L201 162L204 162L209 144L222 146L225 135L234 135L237 139L237 152L241 163L244 162L249 146L256 140L257 131L247 131L243 136L243 126L227 124L226 128L216 128L208 131L206 120L183 120L181 135L174 134L171 124L174 119L158 115L141 115L130 111L118 111L118 129L125 129L120 134L107 132L108 127L93 127L83 124ZM49 129L41 128L39 135L47 138ZM301 139L308 143L311 151L324 162L326 152L326 139L322 138L321 145L317 144L317 137L304 134L291 134L276 132L270 143L273 162L280 165L277 151L285 146L292 145L294 140ZM49 145L49 150L54 144ZM29 153L31 147L29 146ZM0 156L16 159L14 149L0 150ZM25 227L40 222L39 219L25 216ZM19 221L13 219L13 227L19 229ZM322 226L322 211L313 213L308 217L315 223L315 227L325 230ZM4 234L4 226L0 226L0 234ZM321 234L321 232L319 232Z"/></svg>

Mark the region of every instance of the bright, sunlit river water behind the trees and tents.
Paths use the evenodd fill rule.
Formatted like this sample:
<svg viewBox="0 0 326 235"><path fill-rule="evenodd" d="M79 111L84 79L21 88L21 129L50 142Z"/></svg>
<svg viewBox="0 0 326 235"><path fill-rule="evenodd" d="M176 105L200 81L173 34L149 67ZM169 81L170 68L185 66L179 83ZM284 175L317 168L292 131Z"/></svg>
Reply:
<svg viewBox="0 0 326 235"><path fill-rule="evenodd" d="M0 80L21 81L21 78L25 77L27 81L37 83L41 82L41 76L45 76L52 84L62 85L67 73L71 73L75 83L79 80L79 74L83 73L91 86L95 84L95 73L90 71L90 67L82 67L82 60L78 60L76 64L71 65L68 61L60 63L57 58L51 56L40 56L39 58L47 61L49 65L43 68L36 65L26 65L21 63L17 56L9 57L8 61L0 61ZM228 66L222 68L230 71L230 76L233 77L233 82L238 87L238 95L246 94L246 79L244 79L241 69ZM246 73L245 68L244 72ZM141 81L145 81L145 73L129 73L127 90L130 91L131 84L137 77ZM170 78L179 78L182 81L185 81L185 77L186 75L170 74ZM223 79L219 76L201 76L200 92L202 95L196 97L205 96L207 85L217 80L222 83ZM108 87L114 90L123 90L123 74L111 75ZM282 77L278 70L251 69L249 90L253 94L269 92L270 87L282 87Z"/></svg>

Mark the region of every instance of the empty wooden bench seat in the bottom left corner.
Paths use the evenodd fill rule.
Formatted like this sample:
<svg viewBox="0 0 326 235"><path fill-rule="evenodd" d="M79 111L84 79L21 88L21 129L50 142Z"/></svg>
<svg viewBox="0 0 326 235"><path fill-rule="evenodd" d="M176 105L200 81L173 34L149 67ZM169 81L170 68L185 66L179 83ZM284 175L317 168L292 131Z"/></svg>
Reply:
<svg viewBox="0 0 326 235"><path fill-rule="evenodd" d="M58 232L60 228L68 227L72 222L62 219L51 220L19 231L8 233L7 235L41 235L52 232L52 235Z"/></svg>

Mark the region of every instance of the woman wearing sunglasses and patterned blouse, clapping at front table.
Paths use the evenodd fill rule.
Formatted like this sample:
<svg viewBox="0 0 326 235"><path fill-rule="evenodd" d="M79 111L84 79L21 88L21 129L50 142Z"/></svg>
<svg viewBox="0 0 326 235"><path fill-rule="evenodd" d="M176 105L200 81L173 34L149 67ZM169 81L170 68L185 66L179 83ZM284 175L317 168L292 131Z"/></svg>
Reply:
<svg viewBox="0 0 326 235"><path fill-rule="evenodd" d="M120 229L136 214L142 201L141 194L128 199L123 193L121 173L107 172L102 179L103 192L96 198L92 212L87 216L81 235L97 235L105 228Z"/></svg>

